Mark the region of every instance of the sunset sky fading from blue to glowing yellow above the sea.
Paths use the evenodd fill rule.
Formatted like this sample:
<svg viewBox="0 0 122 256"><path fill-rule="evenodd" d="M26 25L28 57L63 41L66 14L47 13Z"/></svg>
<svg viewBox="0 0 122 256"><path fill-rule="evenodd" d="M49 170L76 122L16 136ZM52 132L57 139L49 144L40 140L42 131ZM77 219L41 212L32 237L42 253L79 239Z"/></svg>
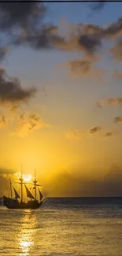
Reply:
<svg viewBox="0 0 122 256"><path fill-rule="evenodd" d="M46 6L43 22L57 26L68 43L54 43L51 50L29 43L9 46L4 29L1 33L2 47L3 42L9 46L1 70L17 77L24 89L37 91L28 103L17 105L14 100L18 107L10 110L12 102L3 100L0 89L0 174L8 178L20 172L22 164L24 173L33 175L37 169L47 193L50 187L49 195L97 195L98 187L102 195L108 186L109 194L113 187L116 194L122 180L122 43L117 44L122 35L122 20L118 21L122 3L106 3L95 11L75 2ZM82 33L96 36L93 48L91 42L81 49L75 43L78 24ZM95 25L105 32L97 34ZM106 185L108 176L112 186ZM82 191L82 180L88 192ZM97 181L91 184L93 180ZM122 194L122 189L117 193Z"/></svg>

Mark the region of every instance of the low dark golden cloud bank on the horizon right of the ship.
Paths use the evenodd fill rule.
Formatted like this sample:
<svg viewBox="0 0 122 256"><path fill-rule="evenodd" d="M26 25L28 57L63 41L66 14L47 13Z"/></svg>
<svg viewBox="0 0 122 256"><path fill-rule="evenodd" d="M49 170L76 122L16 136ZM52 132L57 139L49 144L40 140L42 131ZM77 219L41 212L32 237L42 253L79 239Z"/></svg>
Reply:
<svg viewBox="0 0 122 256"><path fill-rule="evenodd" d="M99 169L98 169L99 171ZM103 179L96 179L94 175L91 178L85 178L84 169L80 167L71 170L62 169L46 181L46 187L49 196L63 197L104 197L104 196L122 196L122 169L110 169Z"/></svg>

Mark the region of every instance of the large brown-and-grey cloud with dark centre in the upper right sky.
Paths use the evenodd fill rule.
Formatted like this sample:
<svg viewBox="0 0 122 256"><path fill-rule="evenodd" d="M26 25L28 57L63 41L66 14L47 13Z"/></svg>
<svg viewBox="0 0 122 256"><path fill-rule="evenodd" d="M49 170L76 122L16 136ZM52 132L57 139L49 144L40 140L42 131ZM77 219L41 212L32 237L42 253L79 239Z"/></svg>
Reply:
<svg viewBox="0 0 122 256"><path fill-rule="evenodd" d="M98 6L103 6L103 2ZM70 24L67 39L60 38L54 46L58 50L83 51L88 56L92 56L101 49L102 39L114 39L120 35L122 35L122 18L106 27L96 24L76 24L75 26Z"/></svg>

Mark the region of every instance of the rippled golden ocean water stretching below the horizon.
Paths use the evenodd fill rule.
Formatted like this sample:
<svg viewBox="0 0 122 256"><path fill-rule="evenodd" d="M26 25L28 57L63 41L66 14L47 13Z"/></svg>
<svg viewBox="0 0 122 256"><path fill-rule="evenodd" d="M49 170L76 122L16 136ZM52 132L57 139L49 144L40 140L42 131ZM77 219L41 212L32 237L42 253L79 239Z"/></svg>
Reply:
<svg viewBox="0 0 122 256"><path fill-rule="evenodd" d="M0 256L122 255L122 199L49 198L39 210L0 206Z"/></svg>

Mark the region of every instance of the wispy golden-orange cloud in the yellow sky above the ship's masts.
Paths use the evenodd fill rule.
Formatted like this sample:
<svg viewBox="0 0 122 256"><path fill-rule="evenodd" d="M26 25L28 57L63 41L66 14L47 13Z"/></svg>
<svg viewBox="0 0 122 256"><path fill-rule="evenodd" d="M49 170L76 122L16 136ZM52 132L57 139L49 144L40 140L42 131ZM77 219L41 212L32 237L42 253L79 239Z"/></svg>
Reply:
<svg viewBox="0 0 122 256"><path fill-rule="evenodd" d="M22 113L17 119L17 130L13 135L25 136L28 132L31 132L39 128L49 128L50 125L46 124L41 117L35 113Z"/></svg>

